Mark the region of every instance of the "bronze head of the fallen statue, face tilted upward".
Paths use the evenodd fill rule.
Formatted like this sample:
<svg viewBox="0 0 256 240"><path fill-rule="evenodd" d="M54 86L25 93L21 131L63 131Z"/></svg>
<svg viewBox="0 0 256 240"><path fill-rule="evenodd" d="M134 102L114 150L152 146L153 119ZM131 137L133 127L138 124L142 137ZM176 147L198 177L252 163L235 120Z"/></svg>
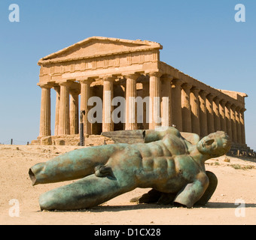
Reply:
<svg viewBox="0 0 256 240"><path fill-rule="evenodd" d="M209 157L220 157L230 151L231 141L223 131L210 133L197 142L197 150Z"/></svg>

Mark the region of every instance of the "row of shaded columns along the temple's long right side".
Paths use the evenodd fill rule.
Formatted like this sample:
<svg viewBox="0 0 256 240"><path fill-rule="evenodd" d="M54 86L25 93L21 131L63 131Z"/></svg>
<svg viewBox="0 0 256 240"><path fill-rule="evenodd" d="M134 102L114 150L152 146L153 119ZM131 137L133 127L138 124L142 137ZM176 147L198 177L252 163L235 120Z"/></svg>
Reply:
<svg viewBox="0 0 256 240"><path fill-rule="evenodd" d="M245 144L245 109L195 86L172 81L172 124L178 130L206 136L224 130L239 144ZM182 124L181 124L182 123Z"/></svg>

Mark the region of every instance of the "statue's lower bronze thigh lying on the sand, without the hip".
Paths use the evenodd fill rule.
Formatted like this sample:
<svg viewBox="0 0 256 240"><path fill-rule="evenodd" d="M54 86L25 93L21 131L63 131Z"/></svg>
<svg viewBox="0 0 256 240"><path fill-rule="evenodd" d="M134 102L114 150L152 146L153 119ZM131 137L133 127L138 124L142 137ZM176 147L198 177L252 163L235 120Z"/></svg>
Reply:
<svg viewBox="0 0 256 240"><path fill-rule="evenodd" d="M105 177L89 175L72 184L43 193L39 198L41 210L91 208L136 188L133 181L125 183L122 179L118 181L117 178L108 175L105 170L109 172L109 167L103 171L107 175Z"/></svg>

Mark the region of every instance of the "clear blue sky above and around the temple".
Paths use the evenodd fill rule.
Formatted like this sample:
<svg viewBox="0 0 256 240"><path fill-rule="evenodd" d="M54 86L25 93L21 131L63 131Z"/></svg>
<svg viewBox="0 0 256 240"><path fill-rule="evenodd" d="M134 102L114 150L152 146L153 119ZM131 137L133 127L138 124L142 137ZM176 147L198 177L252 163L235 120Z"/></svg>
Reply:
<svg viewBox="0 0 256 240"><path fill-rule="evenodd" d="M8 18L14 3L20 23ZM236 4L245 5L245 23L234 20ZM247 93L246 140L256 150L253 0L0 1L0 142L37 138L39 58L91 36L157 41L161 61L216 89Z"/></svg>

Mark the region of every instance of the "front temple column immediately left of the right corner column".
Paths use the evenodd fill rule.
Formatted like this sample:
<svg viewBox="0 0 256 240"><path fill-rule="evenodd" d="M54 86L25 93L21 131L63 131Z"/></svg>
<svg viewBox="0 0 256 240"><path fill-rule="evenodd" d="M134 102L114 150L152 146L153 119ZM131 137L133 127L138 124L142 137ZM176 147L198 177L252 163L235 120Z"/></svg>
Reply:
<svg viewBox="0 0 256 240"><path fill-rule="evenodd" d="M126 122L125 130L136 130L137 127L137 108L136 108L136 80L137 74L130 74L126 78Z"/></svg>

